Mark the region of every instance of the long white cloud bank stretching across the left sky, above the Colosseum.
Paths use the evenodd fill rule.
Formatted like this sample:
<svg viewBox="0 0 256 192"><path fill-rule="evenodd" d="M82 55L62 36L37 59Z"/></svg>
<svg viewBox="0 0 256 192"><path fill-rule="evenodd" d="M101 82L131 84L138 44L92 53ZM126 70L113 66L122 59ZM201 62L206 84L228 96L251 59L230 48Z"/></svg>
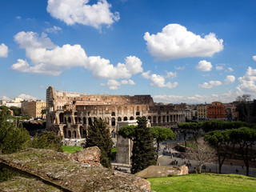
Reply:
<svg viewBox="0 0 256 192"><path fill-rule="evenodd" d="M26 50L29 62L18 59L11 69L21 72L37 74L59 75L63 70L69 70L73 66L82 66L92 72L95 78L131 78L132 75L141 73L142 61L135 56L128 56L124 63L117 66L110 64L110 60L99 56L86 55L80 45L69 44L55 46L46 34L41 37L34 32L20 32L14 40Z"/></svg>

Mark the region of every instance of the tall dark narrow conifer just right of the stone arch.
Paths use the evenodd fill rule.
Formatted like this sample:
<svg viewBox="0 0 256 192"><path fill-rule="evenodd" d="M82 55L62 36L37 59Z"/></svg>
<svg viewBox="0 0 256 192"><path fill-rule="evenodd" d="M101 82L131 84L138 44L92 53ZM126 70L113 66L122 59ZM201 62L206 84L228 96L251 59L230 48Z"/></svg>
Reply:
<svg viewBox="0 0 256 192"><path fill-rule="evenodd" d="M154 138L150 128L146 127L146 123L145 117L138 118L138 126L135 128L133 154L131 156L132 174L156 164Z"/></svg>

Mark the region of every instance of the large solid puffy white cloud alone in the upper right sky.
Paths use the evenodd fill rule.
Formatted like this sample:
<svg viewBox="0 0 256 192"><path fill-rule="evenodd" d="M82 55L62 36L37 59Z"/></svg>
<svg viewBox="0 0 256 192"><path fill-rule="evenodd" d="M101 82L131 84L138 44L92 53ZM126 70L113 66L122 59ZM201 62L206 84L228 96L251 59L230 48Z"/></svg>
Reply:
<svg viewBox="0 0 256 192"><path fill-rule="evenodd" d="M144 35L147 49L159 60L174 58L212 57L223 50L223 40L214 33L202 38L186 30L185 26L169 24L158 34L146 32Z"/></svg>

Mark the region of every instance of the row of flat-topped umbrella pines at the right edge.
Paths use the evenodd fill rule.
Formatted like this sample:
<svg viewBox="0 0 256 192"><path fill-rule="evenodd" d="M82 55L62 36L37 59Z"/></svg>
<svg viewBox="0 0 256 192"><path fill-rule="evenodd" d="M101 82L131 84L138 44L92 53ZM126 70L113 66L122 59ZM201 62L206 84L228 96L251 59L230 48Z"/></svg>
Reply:
<svg viewBox="0 0 256 192"><path fill-rule="evenodd" d="M185 145L186 134L192 134L198 144L197 138L200 131L207 133L204 140L217 150L219 173L221 173L227 154L230 153L231 158L234 158L234 151L238 148L238 153L242 155L246 165L246 174L249 174L249 161L255 156L253 145L256 142L256 129L254 124L211 120L208 122L182 122L178 124L178 127L182 129Z"/></svg>

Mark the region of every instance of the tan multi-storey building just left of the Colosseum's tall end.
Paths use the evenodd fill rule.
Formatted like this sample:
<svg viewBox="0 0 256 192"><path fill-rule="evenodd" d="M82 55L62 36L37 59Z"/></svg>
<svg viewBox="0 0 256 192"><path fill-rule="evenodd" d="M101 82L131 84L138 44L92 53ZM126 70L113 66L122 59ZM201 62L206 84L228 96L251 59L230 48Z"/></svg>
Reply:
<svg viewBox="0 0 256 192"><path fill-rule="evenodd" d="M46 102L42 100L23 101L22 114L33 118L46 118L46 114L42 115L42 110L46 110Z"/></svg>

